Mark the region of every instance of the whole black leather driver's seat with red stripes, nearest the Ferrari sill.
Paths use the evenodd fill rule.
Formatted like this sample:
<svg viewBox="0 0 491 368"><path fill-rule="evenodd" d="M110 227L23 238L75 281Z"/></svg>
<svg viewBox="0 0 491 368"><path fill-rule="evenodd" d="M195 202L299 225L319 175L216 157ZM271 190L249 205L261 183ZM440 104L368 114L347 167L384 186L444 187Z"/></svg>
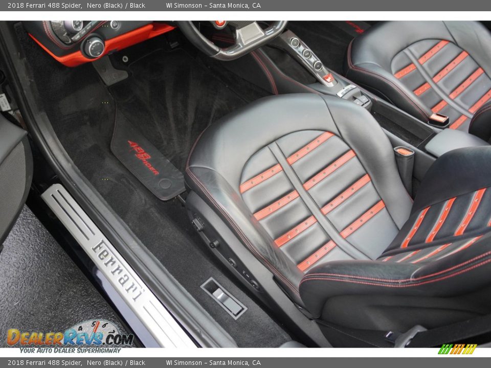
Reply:
<svg viewBox="0 0 491 368"><path fill-rule="evenodd" d="M210 126L185 176L315 318L406 331L489 312L489 163L491 147L441 156L413 203L369 112L300 94Z"/></svg>

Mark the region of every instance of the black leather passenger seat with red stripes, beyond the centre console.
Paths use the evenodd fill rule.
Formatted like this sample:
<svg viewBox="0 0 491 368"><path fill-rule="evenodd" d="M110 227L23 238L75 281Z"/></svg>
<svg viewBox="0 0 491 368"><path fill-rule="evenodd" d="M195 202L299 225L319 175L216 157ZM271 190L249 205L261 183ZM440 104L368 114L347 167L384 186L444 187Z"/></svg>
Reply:
<svg viewBox="0 0 491 368"><path fill-rule="evenodd" d="M348 78L423 122L448 116L451 129L467 131L491 99L491 34L480 22L382 22L351 42L346 66ZM488 141L491 122L472 125Z"/></svg>

